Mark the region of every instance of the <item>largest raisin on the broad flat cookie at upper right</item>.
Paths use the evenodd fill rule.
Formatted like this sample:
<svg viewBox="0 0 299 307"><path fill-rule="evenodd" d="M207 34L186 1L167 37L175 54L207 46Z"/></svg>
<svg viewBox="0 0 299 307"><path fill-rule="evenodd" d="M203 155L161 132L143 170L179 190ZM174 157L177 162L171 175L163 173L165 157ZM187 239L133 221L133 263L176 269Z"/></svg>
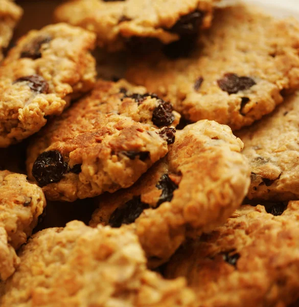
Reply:
<svg viewBox="0 0 299 307"><path fill-rule="evenodd" d="M257 84L254 79L249 77L239 77L237 74L228 73L222 79L217 80L220 89L229 95L236 94L239 91L250 89Z"/></svg>

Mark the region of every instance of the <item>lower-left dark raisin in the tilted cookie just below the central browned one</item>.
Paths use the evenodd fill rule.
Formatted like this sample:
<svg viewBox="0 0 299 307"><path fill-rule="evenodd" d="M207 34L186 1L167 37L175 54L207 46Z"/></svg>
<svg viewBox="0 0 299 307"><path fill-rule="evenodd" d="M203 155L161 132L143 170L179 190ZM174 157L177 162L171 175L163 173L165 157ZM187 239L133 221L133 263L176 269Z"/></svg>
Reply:
<svg viewBox="0 0 299 307"><path fill-rule="evenodd" d="M143 210L149 205L141 201L140 196L134 196L132 200L114 210L109 218L109 225L114 228L121 227L122 224L131 224L140 216Z"/></svg>

